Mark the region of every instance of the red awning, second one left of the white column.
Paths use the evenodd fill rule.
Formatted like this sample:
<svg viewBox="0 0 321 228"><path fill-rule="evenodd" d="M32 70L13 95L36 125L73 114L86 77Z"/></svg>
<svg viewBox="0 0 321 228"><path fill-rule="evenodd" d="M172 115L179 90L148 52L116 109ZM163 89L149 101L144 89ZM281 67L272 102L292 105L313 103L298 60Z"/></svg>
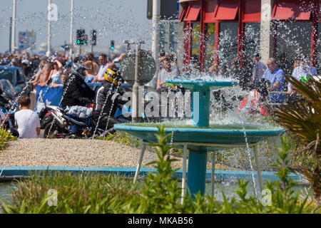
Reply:
<svg viewBox="0 0 321 228"><path fill-rule="evenodd" d="M238 0L220 1L215 18L217 20L235 20L238 14Z"/></svg>

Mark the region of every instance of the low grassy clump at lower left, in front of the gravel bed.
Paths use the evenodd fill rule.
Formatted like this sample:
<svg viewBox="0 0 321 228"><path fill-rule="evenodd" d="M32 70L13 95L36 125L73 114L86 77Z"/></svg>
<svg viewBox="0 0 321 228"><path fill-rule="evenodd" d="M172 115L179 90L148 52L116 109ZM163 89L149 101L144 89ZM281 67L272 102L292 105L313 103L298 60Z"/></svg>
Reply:
<svg viewBox="0 0 321 228"><path fill-rule="evenodd" d="M84 175L70 172L36 172L19 182L5 213L113 213L119 205L140 195L140 186L119 175ZM57 191L57 205L50 206L49 190Z"/></svg>

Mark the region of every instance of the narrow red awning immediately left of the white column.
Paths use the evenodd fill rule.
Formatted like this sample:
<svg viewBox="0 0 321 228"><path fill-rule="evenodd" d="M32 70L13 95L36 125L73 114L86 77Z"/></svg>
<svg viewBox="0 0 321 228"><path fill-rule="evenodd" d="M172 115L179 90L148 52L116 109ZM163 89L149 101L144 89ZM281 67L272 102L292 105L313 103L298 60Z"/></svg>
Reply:
<svg viewBox="0 0 321 228"><path fill-rule="evenodd" d="M247 0L244 5L243 22L261 21L261 1Z"/></svg>

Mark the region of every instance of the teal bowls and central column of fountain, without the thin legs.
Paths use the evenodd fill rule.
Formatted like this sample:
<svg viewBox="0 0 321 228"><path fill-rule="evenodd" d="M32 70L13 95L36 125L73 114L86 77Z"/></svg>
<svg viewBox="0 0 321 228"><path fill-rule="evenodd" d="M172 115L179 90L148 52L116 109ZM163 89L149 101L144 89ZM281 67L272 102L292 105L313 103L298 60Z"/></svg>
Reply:
<svg viewBox="0 0 321 228"><path fill-rule="evenodd" d="M192 99L192 123L198 128L165 128L165 132L174 133L173 142L203 142L225 145L245 145L244 133L248 143L255 143L269 136L276 136L278 130L218 130L206 129L210 123L210 90L228 86L236 86L233 81L191 81L178 78L170 78L166 83L173 83L193 91ZM123 130L147 142L157 142L157 128L145 126L114 125L116 130ZM205 129L204 129L205 128ZM190 195L205 192L206 177L206 147L189 147L188 159L188 187Z"/></svg>

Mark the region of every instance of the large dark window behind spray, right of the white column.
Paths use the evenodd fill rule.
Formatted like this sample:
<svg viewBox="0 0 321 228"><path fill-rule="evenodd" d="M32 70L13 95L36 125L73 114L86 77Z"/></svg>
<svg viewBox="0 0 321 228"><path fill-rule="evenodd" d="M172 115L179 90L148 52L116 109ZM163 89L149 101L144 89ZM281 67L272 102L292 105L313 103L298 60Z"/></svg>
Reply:
<svg viewBox="0 0 321 228"><path fill-rule="evenodd" d="M311 31L309 22L281 22L277 23L275 58L278 66L291 74L295 58L311 55Z"/></svg>

